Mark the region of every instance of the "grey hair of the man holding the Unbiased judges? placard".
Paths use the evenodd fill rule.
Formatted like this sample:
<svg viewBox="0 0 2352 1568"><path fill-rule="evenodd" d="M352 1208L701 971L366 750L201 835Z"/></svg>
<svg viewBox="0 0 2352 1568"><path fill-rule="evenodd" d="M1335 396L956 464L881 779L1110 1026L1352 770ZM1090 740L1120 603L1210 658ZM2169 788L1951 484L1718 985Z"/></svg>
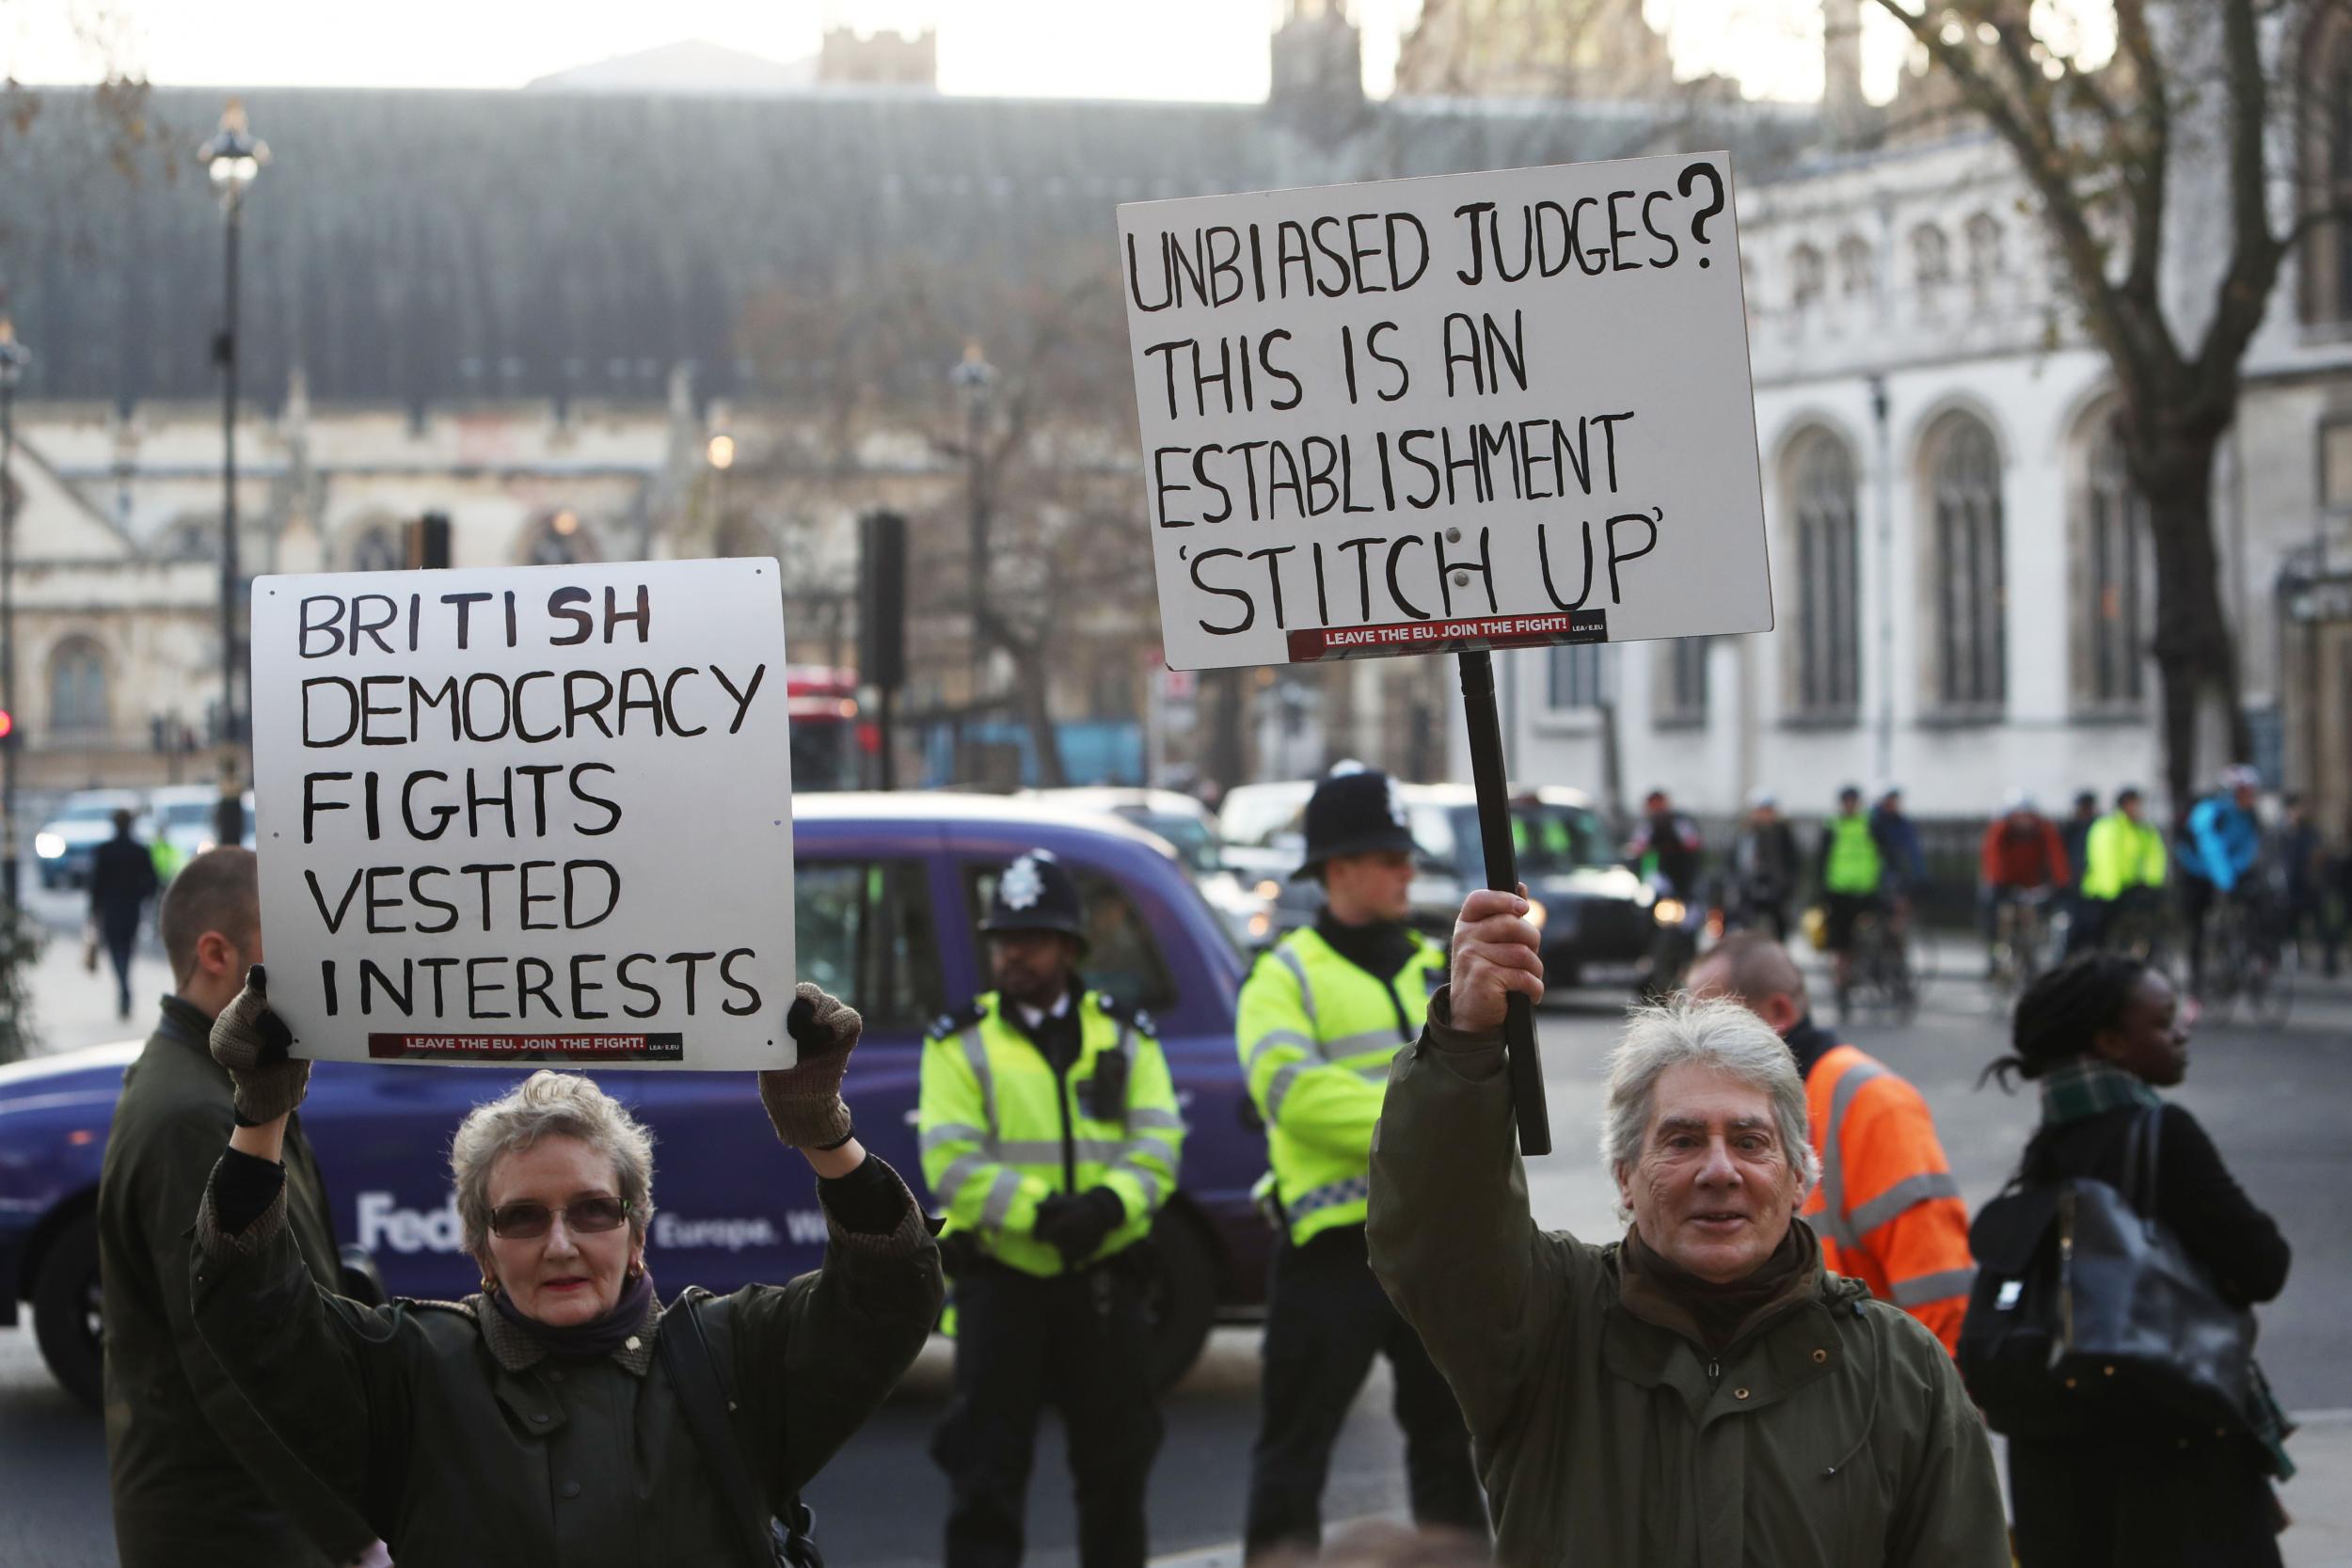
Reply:
<svg viewBox="0 0 2352 1568"><path fill-rule="evenodd" d="M1668 1067L1708 1067L1764 1091L1797 1168L1797 1194L1820 1180L1820 1159L1804 1133L1804 1077L1788 1041L1738 1001L1696 1001L1677 992L1663 1006L1632 1009L1625 1039L1609 1053L1609 1105L1602 1112L1602 1161L1611 1178L1642 1161L1658 1079Z"/></svg>

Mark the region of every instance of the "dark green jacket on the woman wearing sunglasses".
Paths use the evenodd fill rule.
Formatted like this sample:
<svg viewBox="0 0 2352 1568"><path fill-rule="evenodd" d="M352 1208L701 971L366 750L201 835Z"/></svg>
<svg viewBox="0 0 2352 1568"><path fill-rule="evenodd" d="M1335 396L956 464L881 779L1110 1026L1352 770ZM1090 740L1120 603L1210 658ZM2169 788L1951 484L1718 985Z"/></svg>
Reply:
<svg viewBox="0 0 2352 1568"><path fill-rule="evenodd" d="M228 1237L207 1190L195 1321L400 1568L743 1568L741 1526L654 1349L659 1302L597 1359L550 1356L480 1295L360 1307L303 1274L282 1201ZM771 1509L882 1403L938 1319L938 1246L913 1197L889 1234L830 1229L814 1274L701 1309Z"/></svg>

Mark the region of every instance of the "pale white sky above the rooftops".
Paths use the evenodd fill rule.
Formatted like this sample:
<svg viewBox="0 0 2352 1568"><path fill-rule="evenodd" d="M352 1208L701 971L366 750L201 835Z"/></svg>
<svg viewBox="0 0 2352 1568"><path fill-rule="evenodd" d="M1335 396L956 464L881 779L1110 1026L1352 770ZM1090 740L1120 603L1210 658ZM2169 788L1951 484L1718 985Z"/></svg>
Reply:
<svg viewBox="0 0 2352 1568"><path fill-rule="evenodd" d="M1682 75L1722 71L1750 94L1820 92L1818 0L1644 0ZM1282 0L0 0L0 75L82 82L106 28L115 56L167 87L520 87L701 38L790 61L826 24L936 26L955 94L1265 96ZM1863 7L1877 12L1875 5ZM1421 0L1352 0L1364 78L1385 94ZM80 21L80 26L75 26ZM1900 38L1867 26L1870 89L1893 87Z"/></svg>

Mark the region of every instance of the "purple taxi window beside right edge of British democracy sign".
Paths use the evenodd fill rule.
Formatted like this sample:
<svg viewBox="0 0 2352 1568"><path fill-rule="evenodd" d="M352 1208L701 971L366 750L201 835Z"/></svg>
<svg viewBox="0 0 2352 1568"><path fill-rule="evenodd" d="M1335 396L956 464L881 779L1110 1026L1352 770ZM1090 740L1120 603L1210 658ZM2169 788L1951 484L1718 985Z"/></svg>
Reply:
<svg viewBox="0 0 2352 1568"><path fill-rule="evenodd" d="M800 860L793 950L800 978L858 1009L870 1032L920 1034L946 1011L922 860Z"/></svg>

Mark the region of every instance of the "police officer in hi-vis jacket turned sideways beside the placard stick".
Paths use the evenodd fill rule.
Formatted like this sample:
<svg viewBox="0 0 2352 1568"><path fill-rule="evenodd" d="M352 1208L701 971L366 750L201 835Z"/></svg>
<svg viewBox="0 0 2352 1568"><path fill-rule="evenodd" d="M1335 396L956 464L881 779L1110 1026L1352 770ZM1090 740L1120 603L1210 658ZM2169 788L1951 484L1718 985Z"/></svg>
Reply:
<svg viewBox="0 0 2352 1568"><path fill-rule="evenodd" d="M1388 1356L1414 1521L1486 1533L1461 1406L1381 1281L1364 1244L1371 1133L1388 1063L1444 980L1437 943L1404 924L1414 835L1381 771L1315 785L1298 877L1322 882L1312 926L1284 936L1242 983L1237 1037L1265 1121L1265 1201L1282 1229L1265 1295L1258 1441L1244 1549L1312 1552L1331 1443Z"/></svg>

